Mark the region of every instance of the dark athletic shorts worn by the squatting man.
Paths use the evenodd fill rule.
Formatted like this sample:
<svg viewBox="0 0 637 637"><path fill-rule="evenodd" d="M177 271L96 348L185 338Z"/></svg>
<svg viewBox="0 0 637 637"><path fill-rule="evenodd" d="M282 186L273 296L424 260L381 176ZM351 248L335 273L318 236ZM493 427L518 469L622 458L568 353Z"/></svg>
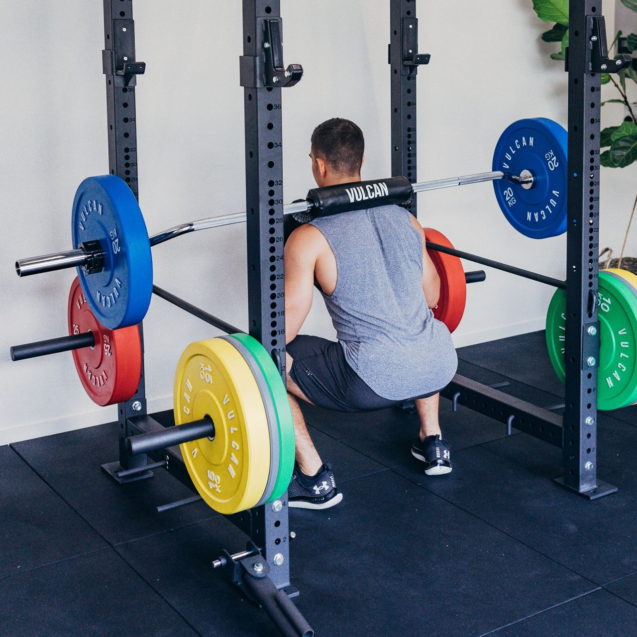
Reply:
<svg viewBox="0 0 637 637"><path fill-rule="evenodd" d="M404 403L383 398L371 390L345 360L338 342L299 334L286 348L294 361L288 370L290 377L310 402L319 407L336 412L371 412Z"/></svg>

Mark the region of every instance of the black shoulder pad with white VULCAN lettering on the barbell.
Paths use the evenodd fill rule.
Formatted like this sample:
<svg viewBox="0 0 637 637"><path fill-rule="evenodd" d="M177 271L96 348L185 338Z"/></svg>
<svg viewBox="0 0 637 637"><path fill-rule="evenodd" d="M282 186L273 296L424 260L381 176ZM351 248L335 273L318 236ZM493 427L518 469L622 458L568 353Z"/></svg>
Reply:
<svg viewBox="0 0 637 637"><path fill-rule="evenodd" d="M412 194L412 183L403 176L366 182L337 183L308 191L306 199L313 207L307 214L315 219L350 210L400 205L408 201Z"/></svg>

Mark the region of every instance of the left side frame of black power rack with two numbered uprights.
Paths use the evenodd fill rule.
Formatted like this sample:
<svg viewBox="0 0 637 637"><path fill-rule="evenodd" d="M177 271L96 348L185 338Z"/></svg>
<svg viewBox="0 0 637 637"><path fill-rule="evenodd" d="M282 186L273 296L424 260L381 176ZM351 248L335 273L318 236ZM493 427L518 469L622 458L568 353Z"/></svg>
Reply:
<svg viewBox="0 0 637 637"><path fill-rule="evenodd" d="M109 169L138 197L134 87L145 64L135 59L132 0L103 1ZM243 1L240 70L245 87L249 332L271 352L285 378L281 87L298 82L303 69L299 65L283 68L279 13L279 0ZM224 331L240 331L156 286L154 293ZM141 324L139 329L143 336ZM165 427L147 413L143 361L136 394L118 405L118 424L119 459L102 466L106 473L125 483L151 478L153 469L164 468L196 492L180 448L169 442L173 427ZM152 443L147 453L132 455L127 438L150 433L164 445ZM199 499L190 497L162 509ZM287 494L274 503L227 517L250 541L247 550L235 555L224 552L212 566L223 567L248 599L263 606L282 634L311 637L313 631L290 601L299 592L290 585Z"/></svg>

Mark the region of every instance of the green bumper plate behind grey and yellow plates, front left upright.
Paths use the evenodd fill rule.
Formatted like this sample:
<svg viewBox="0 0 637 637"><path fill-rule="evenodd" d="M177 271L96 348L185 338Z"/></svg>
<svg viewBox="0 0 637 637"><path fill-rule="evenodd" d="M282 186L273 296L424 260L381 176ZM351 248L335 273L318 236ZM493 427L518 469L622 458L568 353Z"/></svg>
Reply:
<svg viewBox="0 0 637 637"><path fill-rule="evenodd" d="M281 375L261 343L248 334L231 334L231 336L243 343L259 364L275 403L276 419L279 426L280 454L278 478L272 495L268 499L268 502L273 502L287 490L292 478L292 469L294 469L294 422L290 411L290 401Z"/></svg>

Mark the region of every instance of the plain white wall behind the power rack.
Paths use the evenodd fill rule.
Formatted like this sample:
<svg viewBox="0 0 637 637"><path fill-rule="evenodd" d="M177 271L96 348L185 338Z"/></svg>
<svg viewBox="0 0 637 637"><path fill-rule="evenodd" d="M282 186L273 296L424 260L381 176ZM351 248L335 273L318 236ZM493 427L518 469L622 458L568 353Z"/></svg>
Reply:
<svg viewBox="0 0 637 637"><path fill-rule="evenodd" d="M607 3L606 13L612 12ZM12 363L9 347L61 336L74 273L18 279L13 262L71 247L77 185L108 171L99 0L0 2L0 443L115 419L85 396L71 354ZM311 182L313 127L340 116L366 133L364 178L389 175L389 2L283 0L285 61L303 80L283 91L285 201ZM566 124L566 76L540 41L530 0L420 0L419 180L490 168L503 129L522 117ZM148 231L244 209L243 92L238 1L136 0L140 204ZM634 169L602 173L601 243L619 250ZM420 195L419 217L464 250L564 276L564 237L524 238L505 222L489 183ZM637 238L629 243L637 253ZM465 264L467 269L476 269ZM245 231L215 229L154 248L155 282L245 327ZM489 271L469 287L454 338L467 345L543 327L552 290ZM318 301L318 299L316 299ZM168 408L187 343L217 331L154 298L144 322L149 408ZM308 332L333 336L324 308Z"/></svg>

